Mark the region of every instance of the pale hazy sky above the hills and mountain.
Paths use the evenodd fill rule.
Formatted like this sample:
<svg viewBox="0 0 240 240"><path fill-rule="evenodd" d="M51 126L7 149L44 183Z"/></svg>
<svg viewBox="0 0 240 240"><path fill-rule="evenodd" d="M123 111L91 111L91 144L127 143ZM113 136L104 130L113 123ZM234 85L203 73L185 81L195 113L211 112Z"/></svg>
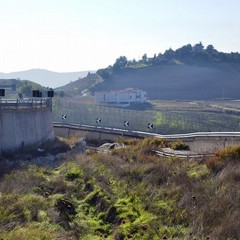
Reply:
<svg viewBox="0 0 240 240"><path fill-rule="evenodd" d="M239 0L0 0L0 72L97 70L188 43L240 51Z"/></svg>

